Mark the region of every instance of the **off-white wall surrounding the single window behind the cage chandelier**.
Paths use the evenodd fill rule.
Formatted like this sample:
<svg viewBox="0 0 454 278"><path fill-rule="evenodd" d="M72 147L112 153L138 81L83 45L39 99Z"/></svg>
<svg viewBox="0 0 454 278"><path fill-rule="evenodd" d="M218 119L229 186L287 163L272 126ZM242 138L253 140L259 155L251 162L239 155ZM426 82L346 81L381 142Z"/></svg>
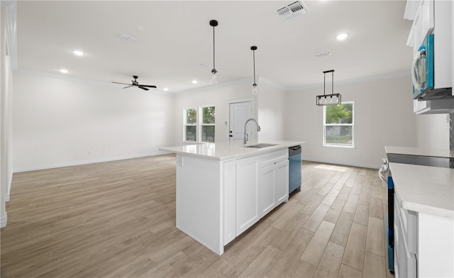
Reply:
<svg viewBox="0 0 454 278"><path fill-rule="evenodd" d="M303 160L378 168L385 145L416 147L411 77L335 84L335 91L355 103L355 148L323 147L323 107L316 106L323 87L287 92L285 139L306 142Z"/></svg>

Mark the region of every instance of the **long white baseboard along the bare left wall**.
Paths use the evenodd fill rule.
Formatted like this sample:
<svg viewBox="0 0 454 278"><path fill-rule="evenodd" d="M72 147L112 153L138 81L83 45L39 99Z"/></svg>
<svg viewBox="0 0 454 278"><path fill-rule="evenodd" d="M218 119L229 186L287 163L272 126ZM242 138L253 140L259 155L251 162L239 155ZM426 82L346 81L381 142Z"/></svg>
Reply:
<svg viewBox="0 0 454 278"><path fill-rule="evenodd" d="M61 163L48 164L48 165L16 167L16 168L13 168L13 173L85 165L85 164L92 164L92 163L99 163L99 162L109 162L109 161L116 161L116 160L129 160L132 158L166 155L166 154L167 154L167 152L157 151L157 152L143 153L143 154L139 154L139 155L124 155L124 156L118 156L118 157L97 158L94 160L79 160L79 161L61 162Z"/></svg>

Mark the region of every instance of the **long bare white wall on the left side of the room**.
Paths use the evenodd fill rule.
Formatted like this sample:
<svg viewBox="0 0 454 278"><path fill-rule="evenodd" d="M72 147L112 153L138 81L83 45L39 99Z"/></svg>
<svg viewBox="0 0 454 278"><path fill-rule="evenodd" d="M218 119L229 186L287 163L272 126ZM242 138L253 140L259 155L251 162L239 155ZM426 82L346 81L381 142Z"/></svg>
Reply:
<svg viewBox="0 0 454 278"><path fill-rule="evenodd" d="M13 74L15 172L158 155L174 144L174 97L112 84Z"/></svg>

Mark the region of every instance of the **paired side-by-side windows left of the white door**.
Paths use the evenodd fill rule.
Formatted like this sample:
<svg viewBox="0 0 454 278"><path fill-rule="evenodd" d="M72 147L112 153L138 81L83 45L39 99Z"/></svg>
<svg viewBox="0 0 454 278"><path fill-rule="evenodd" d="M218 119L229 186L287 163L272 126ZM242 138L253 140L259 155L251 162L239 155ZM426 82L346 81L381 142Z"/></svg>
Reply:
<svg viewBox="0 0 454 278"><path fill-rule="evenodd" d="M214 143L215 111L214 106L185 109L183 140L186 142Z"/></svg>

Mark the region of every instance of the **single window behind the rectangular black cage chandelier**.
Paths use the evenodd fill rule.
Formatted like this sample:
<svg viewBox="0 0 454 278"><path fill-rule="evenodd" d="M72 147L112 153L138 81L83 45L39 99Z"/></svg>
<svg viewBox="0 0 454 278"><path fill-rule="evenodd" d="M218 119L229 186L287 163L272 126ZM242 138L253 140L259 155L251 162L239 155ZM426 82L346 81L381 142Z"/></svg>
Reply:
<svg viewBox="0 0 454 278"><path fill-rule="evenodd" d="M353 102L323 106L323 145L353 148Z"/></svg>

